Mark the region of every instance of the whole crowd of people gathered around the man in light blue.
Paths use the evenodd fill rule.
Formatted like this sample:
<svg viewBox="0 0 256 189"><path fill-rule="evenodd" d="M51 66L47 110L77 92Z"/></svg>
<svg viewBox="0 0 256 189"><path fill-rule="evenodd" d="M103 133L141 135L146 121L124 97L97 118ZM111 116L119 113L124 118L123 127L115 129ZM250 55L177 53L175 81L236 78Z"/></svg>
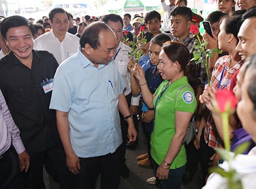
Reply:
<svg viewBox="0 0 256 189"><path fill-rule="evenodd" d="M242 188L255 185L256 1L217 1L218 11L205 19L212 36L200 38L222 54L202 54L199 64L190 27L203 18L187 0L161 4L162 19L155 10L80 19L63 8L36 24L1 18L0 188L45 188L43 167L61 188L95 188L99 174L101 188L118 188L120 176L129 177L125 151L137 145L138 133L147 153L137 164L155 173L145 182L181 188L200 162L204 188L228 188L209 172L225 169L216 152L225 134L213 108L217 90L236 96L231 151L250 145L232 166ZM141 51L138 60L134 51ZM184 144L192 120L197 134Z"/></svg>

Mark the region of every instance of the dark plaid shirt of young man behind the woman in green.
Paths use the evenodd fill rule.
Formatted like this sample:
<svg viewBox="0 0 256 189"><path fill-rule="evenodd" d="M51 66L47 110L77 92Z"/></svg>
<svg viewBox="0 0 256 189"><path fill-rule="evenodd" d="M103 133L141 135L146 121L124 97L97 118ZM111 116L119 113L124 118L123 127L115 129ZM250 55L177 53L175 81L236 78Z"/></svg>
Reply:
<svg viewBox="0 0 256 189"><path fill-rule="evenodd" d="M178 41L178 38L174 38L173 41ZM190 33L187 37L185 37L181 43L183 43L184 45L187 46L187 48L189 49L189 53L190 53L190 60L193 58L193 51L195 51L194 49L194 41L195 38L193 38L193 34ZM203 59L205 59L204 54L202 54ZM193 64L195 64L194 62L191 62ZM195 64L196 67L196 76L199 79L199 85L201 87L204 86L204 82L207 79L207 74L206 74L206 67L204 64L199 63L199 64Z"/></svg>

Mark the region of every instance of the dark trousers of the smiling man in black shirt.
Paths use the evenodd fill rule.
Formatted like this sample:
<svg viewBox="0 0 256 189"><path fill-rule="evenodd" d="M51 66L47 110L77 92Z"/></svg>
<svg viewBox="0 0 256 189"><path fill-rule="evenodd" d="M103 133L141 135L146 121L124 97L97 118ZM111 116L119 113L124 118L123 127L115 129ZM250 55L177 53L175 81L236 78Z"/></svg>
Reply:
<svg viewBox="0 0 256 189"><path fill-rule="evenodd" d="M70 172L66 166L66 156L64 149L60 147L50 148L45 151L30 153L30 167L23 176L27 189L45 188L43 182L43 164L46 156L49 156L52 166L57 173L60 188L71 188Z"/></svg>

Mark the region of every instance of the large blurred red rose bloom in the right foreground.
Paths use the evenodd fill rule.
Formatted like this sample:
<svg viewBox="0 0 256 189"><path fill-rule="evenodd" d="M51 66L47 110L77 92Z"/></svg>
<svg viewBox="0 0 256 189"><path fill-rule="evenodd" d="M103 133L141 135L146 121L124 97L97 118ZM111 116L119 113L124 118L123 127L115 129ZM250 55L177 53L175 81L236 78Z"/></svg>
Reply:
<svg viewBox="0 0 256 189"><path fill-rule="evenodd" d="M236 109L236 97L230 90L218 90L215 94L216 105L220 113L232 112Z"/></svg>

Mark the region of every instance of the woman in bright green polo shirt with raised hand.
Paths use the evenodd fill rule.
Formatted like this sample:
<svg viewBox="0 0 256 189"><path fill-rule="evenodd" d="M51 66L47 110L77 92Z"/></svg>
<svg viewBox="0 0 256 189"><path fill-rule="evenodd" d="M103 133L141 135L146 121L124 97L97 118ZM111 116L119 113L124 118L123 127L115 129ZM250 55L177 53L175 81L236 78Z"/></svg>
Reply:
<svg viewBox="0 0 256 189"><path fill-rule="evenodd" d="M158 69L164 81L154 94L150 93L140 66L134 68L134 75L145 103L155 109L150 152L158 186L180 188L187 163L182 143L196 108L194 89L198 81L194 78L195 66L189 64L190 54L184 44L167 42L159 59Z"/></svg>

